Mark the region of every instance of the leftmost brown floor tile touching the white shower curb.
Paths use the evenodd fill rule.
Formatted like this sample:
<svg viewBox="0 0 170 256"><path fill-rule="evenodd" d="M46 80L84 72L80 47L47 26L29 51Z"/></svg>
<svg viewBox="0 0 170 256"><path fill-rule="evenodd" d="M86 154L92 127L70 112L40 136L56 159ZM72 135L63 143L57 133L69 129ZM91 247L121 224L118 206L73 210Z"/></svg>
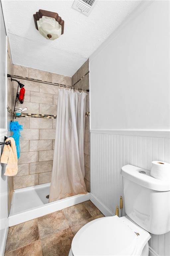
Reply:
<svg viewBox="0 0 170 256"><path fill-rule="evenodd" d="M30 220L10 227L6 242L5 253L39 240L37 219Z"/></svg>

